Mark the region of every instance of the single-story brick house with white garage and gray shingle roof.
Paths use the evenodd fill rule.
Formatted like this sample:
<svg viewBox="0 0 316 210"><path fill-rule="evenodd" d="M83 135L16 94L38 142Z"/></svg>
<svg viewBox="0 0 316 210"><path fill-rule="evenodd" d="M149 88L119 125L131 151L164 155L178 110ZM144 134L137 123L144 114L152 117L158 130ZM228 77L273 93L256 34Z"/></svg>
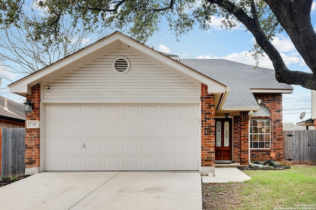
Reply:
<svg viewBox="0 0 316 210"><path fill-rule="evenodd" d="M26 174L200 171L282 160L275 71L180 60L116 32L9 85L26 114ZM251 157L250 157L251 156Z"/></svg>

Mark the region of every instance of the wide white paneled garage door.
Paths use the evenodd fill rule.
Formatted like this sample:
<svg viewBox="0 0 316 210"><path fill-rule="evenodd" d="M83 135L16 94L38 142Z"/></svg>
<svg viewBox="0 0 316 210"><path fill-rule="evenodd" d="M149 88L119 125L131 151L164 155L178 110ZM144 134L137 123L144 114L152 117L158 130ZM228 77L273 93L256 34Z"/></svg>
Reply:
<svg viewBox="0 0 316 210"><path fill-rule="evenodd" d="M199 168L198 105L45 105L45 171Z"/></svg>

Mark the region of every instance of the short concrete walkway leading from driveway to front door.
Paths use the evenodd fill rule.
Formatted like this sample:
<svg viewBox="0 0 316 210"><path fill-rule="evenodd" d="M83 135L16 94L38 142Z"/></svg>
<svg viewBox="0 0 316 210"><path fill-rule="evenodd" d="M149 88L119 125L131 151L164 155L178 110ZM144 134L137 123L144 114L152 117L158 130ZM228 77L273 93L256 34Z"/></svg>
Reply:
<svg viewBox="0 0 316 210"><path fill-rule="evenodd" d="M251 179L237 168L215 168L215 176L202 176L203 183L242 182Z"/></svg>

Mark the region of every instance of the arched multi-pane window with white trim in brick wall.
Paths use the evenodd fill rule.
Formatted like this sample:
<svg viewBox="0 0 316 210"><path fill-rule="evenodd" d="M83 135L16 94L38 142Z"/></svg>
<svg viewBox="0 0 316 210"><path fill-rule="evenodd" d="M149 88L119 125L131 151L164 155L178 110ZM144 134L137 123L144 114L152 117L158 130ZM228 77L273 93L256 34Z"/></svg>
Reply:
<svg viewBox="0 0 316 210"><path fill-rule="evenodd" d="M271 145L271 113L267 106L259 105L260 110L253 113L250 120L250 148L269 149Z"/></svg>

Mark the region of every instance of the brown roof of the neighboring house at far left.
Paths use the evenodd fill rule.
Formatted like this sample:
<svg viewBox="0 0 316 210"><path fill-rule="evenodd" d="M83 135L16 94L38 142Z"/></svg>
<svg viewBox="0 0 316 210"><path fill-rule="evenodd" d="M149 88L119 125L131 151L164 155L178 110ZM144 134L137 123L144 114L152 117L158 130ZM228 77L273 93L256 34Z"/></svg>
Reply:
<svg viewBox="0 0 316 210"><path fill-rule="evenodd" d="M16 103L11 100L7 100L7 106L5 108L6 99L3 96L0 96L0 119L16 121L16 122L24 122L25 121L25 112L24 105Z"/></svg>

